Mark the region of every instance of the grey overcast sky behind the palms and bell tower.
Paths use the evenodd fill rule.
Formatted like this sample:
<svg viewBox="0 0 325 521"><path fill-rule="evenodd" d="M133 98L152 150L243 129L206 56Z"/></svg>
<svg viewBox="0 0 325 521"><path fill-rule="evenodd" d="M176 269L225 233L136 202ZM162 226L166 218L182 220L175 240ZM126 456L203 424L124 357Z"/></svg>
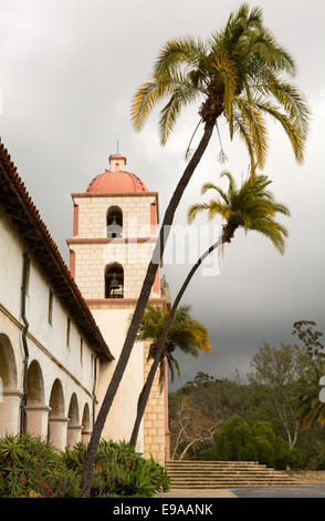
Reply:
<svg viewBox="0 0 325 521"><path fill-rule="evenodd" d="M0 135L67 262L65 238L72 236L71 192L108 167L108 155L128 157L127 168L159 192L160 217L186 163L185 150L198 121L198 106L186 110L170 141L159 144L157 113L141 133L130 122L130 100L148 79L161 45L185 34L208 37L222 27L234 0L1 0ZM224 248L223 267L198 273L184 302L210 331L213 354L179 357L182 379L198 370L231 377L249 362L264 340L292 341L292 324L314 319L325 330L324 16L321 0L250 2L264 10L265 24L295 58L295 82L306 94L313 118L305 162L295 163L280 127L270 125L264 172L272 190L292 211L282 222L290 229L282 257L268 239L237 232ZM224 184L222 167L238 181L248 156L230 143L221 124L226 165L217 161L214 135L190 182L176 223L201 198L206 181ZM226 184L224 184L226 186ZM201 219L200 223L205 223ZM188 269L166 263L171 294ZM211 274L212 272L212 274Z"/></svg>

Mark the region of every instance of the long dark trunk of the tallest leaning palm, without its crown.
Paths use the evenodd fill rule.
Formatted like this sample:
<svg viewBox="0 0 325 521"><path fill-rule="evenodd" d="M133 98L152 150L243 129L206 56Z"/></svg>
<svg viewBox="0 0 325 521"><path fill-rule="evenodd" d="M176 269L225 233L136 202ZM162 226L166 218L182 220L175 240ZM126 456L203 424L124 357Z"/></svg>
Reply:
<svg viewBox="0 0 325 521"><path fill-rule="evenodd" d="M90 445L88 445L88 449L85 456L85 461L84 461L84 467L83 467L83 476L82 476L83 497L88 497L91 492L93 467L95 463L97 446L101 439L101 435L102 435L107 415L109 412L112 402L115 398L118 386L123 378L126 365L128 362L128 359L129 359L129 356L130 356L130 353L132 353L132 349L136 339L136 335L139 328L139 324L140 324L146 305L150 296L151 287L155 282L155 276L156 276L160 259L165 251L165 244L167 242L167 238L170 232L170 226L174 221L175 212L181 200L184 191L186 190L200 159L202 157L208 146L208 143L213 132L213 125L214 125L214 122L206 123L205 133L201 137L201 141L195 154L192 155L192 159L190 160L187 167L185 168L184 174L181 178L179 180L178 185L166 210L164 222L162 222L160 233L159 233L159 238L157 241L151 260L147 268L146 277L143 283L141 292L140 292L140 295L139 295L139 298L135 308L135 313L133 315L133 319L132 319L132 323L129 325L129 328L128 328L128 331L124 341L123 349L120 351L119 359L116 364L112 380L107 387L106 395L102 402L96 422L93 427L93 432L92 432L92 437L90 440Z"/></svg>

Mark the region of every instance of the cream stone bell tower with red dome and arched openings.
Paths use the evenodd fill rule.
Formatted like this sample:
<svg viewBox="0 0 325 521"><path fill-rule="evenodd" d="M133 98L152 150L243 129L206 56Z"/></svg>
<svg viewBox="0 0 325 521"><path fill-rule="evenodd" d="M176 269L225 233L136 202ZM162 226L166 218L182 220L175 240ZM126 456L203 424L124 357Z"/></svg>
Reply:
<svg viewBox="0 0 325 521"><path fill-rule="evenodd" d="M147 265L157 241L158 193L126 171L124 155L109 155L109 170L94 177L83 193L73 193L74 219L70 269L115 357L102 364L97 375L97 410L124 345ZM150 303L165 306L159 270ZM137 398L143 388L148 346L137 341L109 411L103 437L128 440L135 421ZM155 403L151 412L150 403ZM137 450L165 460L166 397L151 390L139 431Z"/></svg>

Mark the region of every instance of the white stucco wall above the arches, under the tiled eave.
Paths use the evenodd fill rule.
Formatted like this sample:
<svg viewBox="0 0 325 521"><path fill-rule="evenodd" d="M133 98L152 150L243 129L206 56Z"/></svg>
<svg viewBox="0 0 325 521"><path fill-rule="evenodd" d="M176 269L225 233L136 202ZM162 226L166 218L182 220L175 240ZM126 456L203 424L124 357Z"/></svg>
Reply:
<svg viewBox="0 0 325 521"><path fill-rule="evenodd" d="M0 207L0 334L9 338L14 351L18 384L22 391L23 346L21 319L21 283L23 252L25 246L18 229ZM76 394L80 422L85 403L92 413L93 372L91 366L95 351L83 338L83 362L81 361L81 333L71 319L70 347L66 346L67 310L54 293L52 326L49 324L50 286L36 262L31 258L27 317L29 365L40 364L44 384L44 405L49 405L53 382L60 379L64 395L64 415L67 416L70 399ZM0 368L1 375L1 368ZM1 426L1 417L0 417ZM19 428L17 421L15 429ZM1 429L0 429L1 430Z"/></svg>

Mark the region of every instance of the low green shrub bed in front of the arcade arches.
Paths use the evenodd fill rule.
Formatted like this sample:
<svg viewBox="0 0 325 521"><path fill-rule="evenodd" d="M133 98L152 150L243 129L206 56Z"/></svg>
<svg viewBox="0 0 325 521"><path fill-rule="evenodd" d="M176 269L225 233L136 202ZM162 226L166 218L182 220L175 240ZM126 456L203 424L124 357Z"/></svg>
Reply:
<svg viewBox="0 0 325 521"><path fill-rule="evenodd" d="M0 440L1 498L77 498L87 446L59 452L51 443L31 435ZM153 497L169 488L162 467L141 458L126 442L101 441L92 497Z"/></svg>

